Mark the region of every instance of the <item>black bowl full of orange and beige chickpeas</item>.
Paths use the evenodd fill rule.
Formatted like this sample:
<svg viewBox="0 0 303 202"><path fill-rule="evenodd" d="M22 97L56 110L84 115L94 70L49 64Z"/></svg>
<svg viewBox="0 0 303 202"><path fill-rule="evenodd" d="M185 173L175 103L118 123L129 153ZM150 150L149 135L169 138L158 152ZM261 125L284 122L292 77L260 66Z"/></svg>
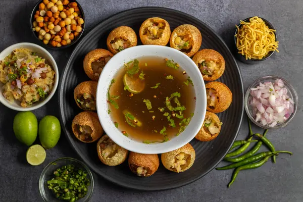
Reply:
<svg viewBox="0 0 303 202"><path fill-rule="evenodd" d="M60 49L79 40L85 27L85 17L77 1L40 0L31 13L30 25L44 47Z"/></svg>

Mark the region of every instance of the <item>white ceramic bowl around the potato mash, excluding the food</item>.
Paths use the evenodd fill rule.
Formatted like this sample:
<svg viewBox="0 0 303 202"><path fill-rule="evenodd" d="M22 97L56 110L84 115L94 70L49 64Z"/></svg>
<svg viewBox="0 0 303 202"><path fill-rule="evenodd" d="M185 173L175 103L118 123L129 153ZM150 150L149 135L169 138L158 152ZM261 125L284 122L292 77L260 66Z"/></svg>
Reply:
<svg viewBox="0 0 303 202"><path fill-rule="evenodd" d="M5 57L10 55L14 51L14 49L21 48L21 47L28 48L33 52L37 52L38 56L44 58L46 63L52 66L52 68L55 71L54 87L53 87L51 93L49 93L44 100L42 100L38 103L35 103L35 104L33 104L33 105L31 105L30 107L27 107L27 108L21 107L20 103L18 101L15 101L14 103L10 103L9 100L7 100L3 96L2 91L0 93L0 102L3 105L5 105L6 107L11 108L11 109L16 110L16 111L32 111L32 110L35 110L35 109L38 109L38 108L42 107L53 97L53 95L55 94L56 89L58 87L58 83L59 83L59 71L58 71L56 61L53 58L53 56L51 54L49 54L46 51L46 49L44 49L43 47L41 47L39 45L36 45L34 43L16 43L14 45L11 45L11 46L7 47L6 49L4 49L4 51L2 51L0 53L0 60L4 60ZM3 85L4 84L2 82L0 82L0 89L2 88Z"/></svg>

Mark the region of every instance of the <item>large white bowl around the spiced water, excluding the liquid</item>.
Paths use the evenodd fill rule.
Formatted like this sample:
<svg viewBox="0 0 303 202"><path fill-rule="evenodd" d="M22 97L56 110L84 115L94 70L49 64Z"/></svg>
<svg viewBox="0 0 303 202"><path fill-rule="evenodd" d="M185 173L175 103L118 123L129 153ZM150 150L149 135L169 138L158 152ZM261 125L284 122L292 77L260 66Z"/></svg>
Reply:
<svg viewBox="0 0 303 202"><path fill-rule="evenodd" d="M158 56L174 60L174 62L178 63L180 67L186 71L194 84L196 97L194 116L179 136L167 142L144 144L130 137L126 137L115 127L108 114L107 91L111 80L116 72L123 67L124 63L143 56ZM206 89L198 67L182 52L171 47L160 45L139 45L127 48L116 54L106 64L99 77L96 96L98 117L106 134L121 147L141 154L162 154L185 145L192 140L200 130L206 114Z"/></svg>

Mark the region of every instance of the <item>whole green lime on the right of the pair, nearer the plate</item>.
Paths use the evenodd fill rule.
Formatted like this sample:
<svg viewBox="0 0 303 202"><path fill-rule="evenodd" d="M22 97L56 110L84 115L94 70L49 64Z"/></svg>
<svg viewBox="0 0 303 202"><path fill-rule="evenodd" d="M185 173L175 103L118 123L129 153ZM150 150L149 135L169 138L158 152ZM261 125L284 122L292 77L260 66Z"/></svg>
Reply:
<svg viewBox="0 0 303 202"><path fill-rule="evenodd" d="M60 121L54 116L45 116L39 123L39 139L44 148L53 148L61 135Z"/></svg>

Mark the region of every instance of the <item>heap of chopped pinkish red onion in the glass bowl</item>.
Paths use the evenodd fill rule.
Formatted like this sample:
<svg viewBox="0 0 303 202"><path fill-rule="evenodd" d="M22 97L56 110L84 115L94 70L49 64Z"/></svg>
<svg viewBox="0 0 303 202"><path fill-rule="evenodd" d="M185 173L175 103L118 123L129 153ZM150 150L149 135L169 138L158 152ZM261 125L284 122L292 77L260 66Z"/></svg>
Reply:
<svg viewBox="0 0 303 202"><path fill-rule="evenodd" d="M287 120L294 112L294 102L287 95L281 79L266 81L250 89L249 100L252 116L264 126L274 127Z"/></svg>

